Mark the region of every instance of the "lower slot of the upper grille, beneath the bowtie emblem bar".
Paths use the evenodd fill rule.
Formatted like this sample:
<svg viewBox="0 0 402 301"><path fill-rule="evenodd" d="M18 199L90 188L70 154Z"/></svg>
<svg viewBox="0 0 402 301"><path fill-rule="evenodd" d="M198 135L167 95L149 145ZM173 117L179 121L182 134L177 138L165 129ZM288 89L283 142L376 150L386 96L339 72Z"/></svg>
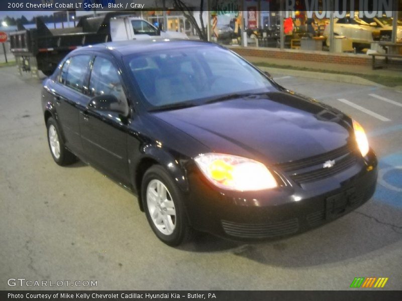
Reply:
<svg viewBox="0 0 402 301"><path fill-rule="evenodd" d="M346 170L355 163L356 157L353 156L353 154L350 154L339 161L335 161L335 165L333 167L323 168L321 166L319 169L313 170L311 172L291 175L290 178L298 183L312 182L331 177L343 170Z"/></svg>

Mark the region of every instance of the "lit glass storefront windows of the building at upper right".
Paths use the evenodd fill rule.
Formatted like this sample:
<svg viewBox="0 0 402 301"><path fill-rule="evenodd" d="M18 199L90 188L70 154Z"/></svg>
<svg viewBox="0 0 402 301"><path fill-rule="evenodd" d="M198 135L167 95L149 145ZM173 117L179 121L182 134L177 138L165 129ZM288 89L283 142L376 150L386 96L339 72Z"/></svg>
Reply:
<svg viewBox="0 0 402 301"><path fill-rule="evenodd" d="M229 4L231 0L218 2L220 8L233 8ZM289 16L285 16L286 13L280 11L279 1L243 0L240 3L238 12L224 10L225 13L217 11L212 15L213 41L258 48L281 48L282 45L283 49L299 51L366 54L383 51L378 43L392 40L393 19L385 15L367 18L361 12L352 12L350 16L348 11L343 18L336 18L339 14L335 12L320 11L319 8L309 14L296 7ZM242 23L241 28L246 35L240 33L241 29L234 33L234 21L240 15L242 22L239 24ZM330 16L334 16L333 19ZM399 19L402 16L399 15ZM333 20L332 24L330 20ZM400 20L397 22L396 42L402 43Z"/></svg>

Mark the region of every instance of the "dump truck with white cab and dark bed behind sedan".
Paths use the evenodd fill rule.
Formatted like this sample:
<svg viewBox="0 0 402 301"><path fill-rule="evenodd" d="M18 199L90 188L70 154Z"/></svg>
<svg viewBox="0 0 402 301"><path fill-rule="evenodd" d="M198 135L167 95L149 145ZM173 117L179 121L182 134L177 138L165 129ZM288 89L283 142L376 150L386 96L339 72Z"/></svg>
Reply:
<svg viewBox="0 0 402 301"><path fill-rule="evenodd" d="M70 51L87 45L110 41L137 39L188 39L179 32L164 32L146 20L122 13L80 18L76 27L49 29L36 18L36 28L25 29L18 24L17 32L10 33L11 51L16 58L20 74L38 71L51 75L58 63Z"/></svg>

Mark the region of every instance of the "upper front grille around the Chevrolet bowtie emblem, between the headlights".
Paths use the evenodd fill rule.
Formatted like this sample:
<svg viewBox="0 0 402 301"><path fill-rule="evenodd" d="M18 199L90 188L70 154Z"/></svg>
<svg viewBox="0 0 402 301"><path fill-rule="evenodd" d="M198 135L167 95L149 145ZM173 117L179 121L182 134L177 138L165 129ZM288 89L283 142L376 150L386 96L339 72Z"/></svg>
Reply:
<svg viewBox="0 0 402 301"><path fill-rule="evenodd" d="M356 156L351 146L346 144L330 152L297 160L276 164L275 167L289 175L297 183L313 182L331 177L356 163ZM327 161L335 161L335 165L324 168Z"/></svg>

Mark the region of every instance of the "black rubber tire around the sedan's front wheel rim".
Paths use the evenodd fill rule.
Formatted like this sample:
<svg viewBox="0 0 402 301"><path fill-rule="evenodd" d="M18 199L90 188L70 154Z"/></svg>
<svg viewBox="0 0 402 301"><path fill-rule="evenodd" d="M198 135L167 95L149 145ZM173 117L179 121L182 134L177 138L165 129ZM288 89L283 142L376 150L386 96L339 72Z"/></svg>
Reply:
<svg viewBox="0 0 402 301"><path fill-rule="evenodd" d="M151 218L150 210L148 209L147 188L152 180L158 180L163 183L171 196L171 201L173 201L174 203L174 209L176 213L175 227L170 235L165 235L157 228ZM162 242L169 246L178 246L191 239L193 231L188 223L182 193L173 182L173 180L170 178L168 173L160 165L154 165L145 172L141 183L141 196L148 223L154 231L155 235Z"/></svg>

